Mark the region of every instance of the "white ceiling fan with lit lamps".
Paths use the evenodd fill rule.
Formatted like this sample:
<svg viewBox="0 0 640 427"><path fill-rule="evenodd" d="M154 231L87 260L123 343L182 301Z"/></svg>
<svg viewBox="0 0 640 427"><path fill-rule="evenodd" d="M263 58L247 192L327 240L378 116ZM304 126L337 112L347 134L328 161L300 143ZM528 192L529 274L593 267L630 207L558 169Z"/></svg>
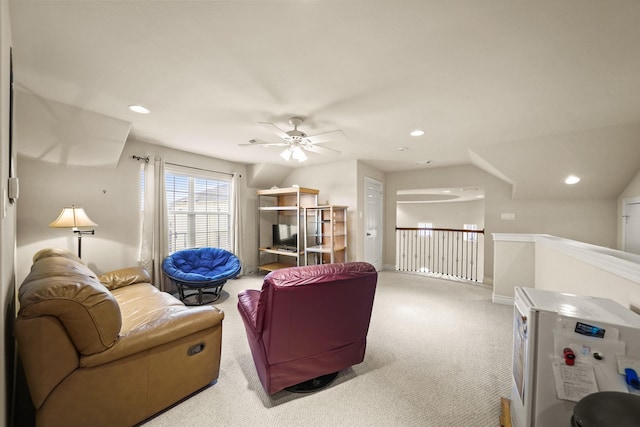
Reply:
<svg viewBox="0 0 640 427"><path fill-rule="evenodd" d="M239 144L243 146L249 145L261 145L263 147L287 147L280 153L280 156L285 160L293 158L299 162L307 160L307 156L304 151L310 151L317 154L339 154L340 151L333 148L320 147L319 144L323 144L329 141L335 141L344 138L344 133L341 130L332 130L328 132L319 133L317 135L307 135L306 133L299 131L300 126L304 120L300 117L291 117L289 124L293 126L293 130L284 131L273 123L260 122L259 124L264 128L282 138L280 142L261 141L258 139L251 139L248 144Z"/></svg>

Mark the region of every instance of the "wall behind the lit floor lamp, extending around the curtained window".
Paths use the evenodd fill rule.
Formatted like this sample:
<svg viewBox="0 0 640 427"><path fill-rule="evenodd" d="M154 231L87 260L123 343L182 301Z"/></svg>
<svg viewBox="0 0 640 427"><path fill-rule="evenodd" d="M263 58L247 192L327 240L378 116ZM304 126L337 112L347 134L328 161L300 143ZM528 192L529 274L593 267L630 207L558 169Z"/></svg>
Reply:
<svg viewBox="0 0 640 427"><path fill-rule="evenodd" d="M96 273L137 265L140 242L140 162L132 155L161 156L166 162L219 171L245 173L245 166L138 141L128 141L115 169L69 167L19 157L22 170L18 209L18 280L22 282L35 252L45 247L77 251L70 230L49 228L63 206L85 208L98 224L96 234L82 239L82 259ZM152 164L152 163L151 163ZM241 200L248 192L240 179ZM255 207L241 207L247 239L255 238ZM255 266L255 251L244 248L243 261Z"/></svg>

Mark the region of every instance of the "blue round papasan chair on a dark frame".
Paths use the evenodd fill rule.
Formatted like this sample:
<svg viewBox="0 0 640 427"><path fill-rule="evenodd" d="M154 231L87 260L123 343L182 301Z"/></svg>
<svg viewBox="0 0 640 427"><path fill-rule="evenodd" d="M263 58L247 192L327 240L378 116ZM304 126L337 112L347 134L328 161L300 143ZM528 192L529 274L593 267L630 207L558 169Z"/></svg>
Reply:
<svg viewBox="0 0 640 427"><path fill-rule="evenodd" d="M216 301L222 286L240 274L241 268L240 260L234 254L220 248L183 249L162 262L162 271L176 285L180 300L185 305ZM213 295L213 298L205 302L204 294ZM193 296L197 296L197 302L189 304L186 300Z"/></svg>

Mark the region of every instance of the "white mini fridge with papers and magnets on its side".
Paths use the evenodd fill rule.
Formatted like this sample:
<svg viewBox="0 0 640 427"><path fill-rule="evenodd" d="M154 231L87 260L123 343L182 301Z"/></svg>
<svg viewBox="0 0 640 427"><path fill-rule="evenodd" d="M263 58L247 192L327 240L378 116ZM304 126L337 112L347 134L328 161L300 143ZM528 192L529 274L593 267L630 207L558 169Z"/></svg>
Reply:
<svg viewBox="0 0 640 427"><path fill-rule="evenodd" d="M515 288L513 329L514 427L567 427L581 397L637 392L620 372L640 375L640 316L615 301Z"/></svg>

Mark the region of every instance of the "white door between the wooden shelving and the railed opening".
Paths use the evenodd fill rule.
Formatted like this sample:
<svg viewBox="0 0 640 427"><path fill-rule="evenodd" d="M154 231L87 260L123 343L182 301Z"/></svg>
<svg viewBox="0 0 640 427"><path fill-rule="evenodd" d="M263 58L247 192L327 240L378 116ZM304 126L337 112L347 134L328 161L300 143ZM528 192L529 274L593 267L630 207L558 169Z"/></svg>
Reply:
<svg viewBox="0 0 640 427"><path fill-rule="evenodd" d="M382 270L382 183L364 177L364 260Z"/></svg>

